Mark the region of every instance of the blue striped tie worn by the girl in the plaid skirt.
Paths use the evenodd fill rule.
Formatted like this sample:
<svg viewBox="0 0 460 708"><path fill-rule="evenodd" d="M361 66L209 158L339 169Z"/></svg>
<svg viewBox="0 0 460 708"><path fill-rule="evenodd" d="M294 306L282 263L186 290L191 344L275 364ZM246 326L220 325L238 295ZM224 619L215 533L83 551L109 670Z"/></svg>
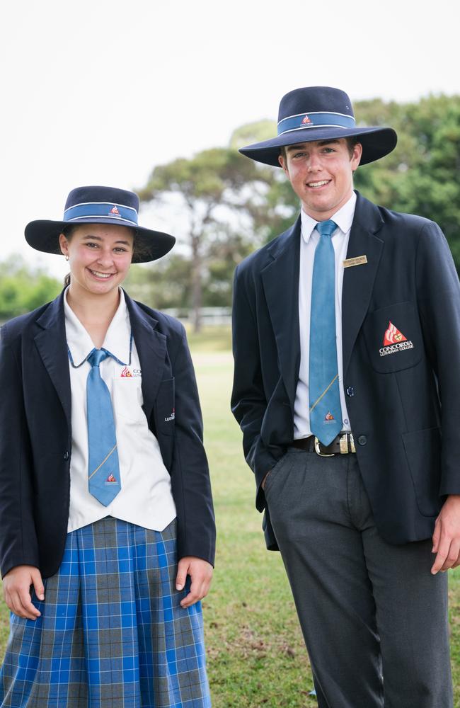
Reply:
<svg viewBox="0 0 460 708"><path fill-rule="evenodd" d="M121 489L112 399L99 370L100 362L109 356L110 352L104 349L94 349L88 356L91 370L86 379L88 487L104 506Z"/></svg>

